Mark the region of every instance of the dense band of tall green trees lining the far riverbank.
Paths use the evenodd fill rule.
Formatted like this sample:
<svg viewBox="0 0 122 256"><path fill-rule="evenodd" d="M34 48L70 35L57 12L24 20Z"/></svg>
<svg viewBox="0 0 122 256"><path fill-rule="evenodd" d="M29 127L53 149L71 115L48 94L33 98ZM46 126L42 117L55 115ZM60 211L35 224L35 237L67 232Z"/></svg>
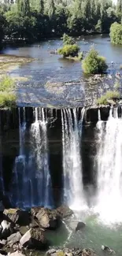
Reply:
<svg viewBox="0 0 122 256"><path fill-rule="evenodd" d="M121 15L120 5L114 7L111 0L5 0L0 32L6 39L29 42L64 33L109 32Z"/></svg>

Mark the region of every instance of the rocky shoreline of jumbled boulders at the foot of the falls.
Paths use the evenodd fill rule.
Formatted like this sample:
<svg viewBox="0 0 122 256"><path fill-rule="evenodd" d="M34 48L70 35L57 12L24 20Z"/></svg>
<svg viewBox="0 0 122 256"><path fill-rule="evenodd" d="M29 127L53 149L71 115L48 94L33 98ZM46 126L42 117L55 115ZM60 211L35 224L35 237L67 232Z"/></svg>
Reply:
<svg viewBox="0 0 122 256"><path fill-rule="evenodd" d="M55 230L64 218L72 216L68 206L60 206L56 210L33 207L31 210L4 209L1 203L0 211L0 256L35 255L35 251L45 252L49 256L97 256L94 250L87 248L50 247L46 239L47 230ZM86 224L76 222L75 232L83 230ZM24 232L21 232L21 228ZM102 246L109 254L114 251Z"/></svg>

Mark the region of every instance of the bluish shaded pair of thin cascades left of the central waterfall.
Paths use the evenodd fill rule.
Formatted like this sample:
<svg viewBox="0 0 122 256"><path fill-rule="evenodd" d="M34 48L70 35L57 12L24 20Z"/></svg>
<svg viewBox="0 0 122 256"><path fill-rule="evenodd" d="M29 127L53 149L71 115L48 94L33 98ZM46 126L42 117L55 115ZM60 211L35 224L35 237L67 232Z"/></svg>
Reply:
<svg viewBox="0 0 122 256"><path fill-rule="evenodd" d="M12 195L10 201L17 207L52 206L51 179L48 162L47 117L44 109L35 108L35 122L31 124L29 149L25 145L27 132L25 109L23 123L19 111L20 152L13 168Z"/></svg>

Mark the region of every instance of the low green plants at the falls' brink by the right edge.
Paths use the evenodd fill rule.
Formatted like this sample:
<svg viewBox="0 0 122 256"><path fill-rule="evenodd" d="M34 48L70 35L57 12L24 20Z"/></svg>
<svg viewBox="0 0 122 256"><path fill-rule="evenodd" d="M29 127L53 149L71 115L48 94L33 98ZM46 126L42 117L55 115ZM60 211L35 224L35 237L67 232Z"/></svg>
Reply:
<svg viewBox="0 0 122 256"><path fill-rule="evenodd" d="M106 105L108 104L109 99L117 99L120 98L120 93L118 91L107 91L105 95L102 95L101 98L98 98L97 104Z"/></svg>

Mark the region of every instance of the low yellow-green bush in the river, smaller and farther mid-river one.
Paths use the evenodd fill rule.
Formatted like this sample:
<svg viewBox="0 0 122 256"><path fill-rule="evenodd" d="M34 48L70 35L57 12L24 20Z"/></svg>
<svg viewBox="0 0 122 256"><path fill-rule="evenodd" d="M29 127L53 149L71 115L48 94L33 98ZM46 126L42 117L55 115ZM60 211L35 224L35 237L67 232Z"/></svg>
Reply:
<svg viewBox="0 0 122 256"><path fill-rule="evenodd" d="M58 54L63 55L64 57L76 57L78 56L79 46L76 44L73 45L65 45L61 49L59 49Z"/></svg>

